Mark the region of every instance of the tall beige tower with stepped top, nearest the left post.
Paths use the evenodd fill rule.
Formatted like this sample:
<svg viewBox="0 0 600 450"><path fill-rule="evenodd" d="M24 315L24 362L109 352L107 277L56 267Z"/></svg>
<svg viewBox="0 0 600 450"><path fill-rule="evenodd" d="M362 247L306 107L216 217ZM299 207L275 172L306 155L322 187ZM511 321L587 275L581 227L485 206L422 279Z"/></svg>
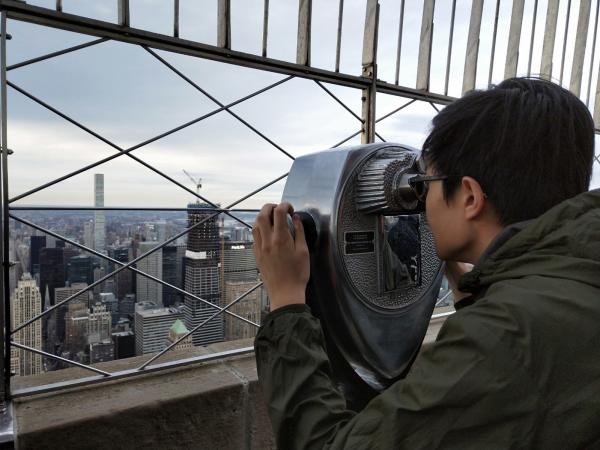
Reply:
<svg viewBox="0 0 600 450"><path fill-rule="evenodd" d="M29 273L25 273L11 296L11 320L13 327L37 316L42 312L42 296ZM17 331L14 341L27 347L42 350L42 322L32 324ZM37 353L11 347L11 369L17 375L35 375L42 372L42 357Z"/></svg>

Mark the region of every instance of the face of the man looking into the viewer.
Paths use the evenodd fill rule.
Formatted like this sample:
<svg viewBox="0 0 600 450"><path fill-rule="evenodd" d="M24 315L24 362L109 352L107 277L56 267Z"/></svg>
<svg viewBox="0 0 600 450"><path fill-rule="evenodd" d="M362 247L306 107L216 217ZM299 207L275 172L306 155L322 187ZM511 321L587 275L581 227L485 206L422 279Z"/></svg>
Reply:
<svg viewBox="0 0 600 450"><path fill-rule="evenodd" d="M445 175L436 173L431 165L427 168L427 175ZM442 260L462 261L465 246L468 243L468 229L464 214L461 210L460 187L452 197L444 199L443 181L430 181L429 191L425 202L427 222L433 233L435 249Z"/></svg>

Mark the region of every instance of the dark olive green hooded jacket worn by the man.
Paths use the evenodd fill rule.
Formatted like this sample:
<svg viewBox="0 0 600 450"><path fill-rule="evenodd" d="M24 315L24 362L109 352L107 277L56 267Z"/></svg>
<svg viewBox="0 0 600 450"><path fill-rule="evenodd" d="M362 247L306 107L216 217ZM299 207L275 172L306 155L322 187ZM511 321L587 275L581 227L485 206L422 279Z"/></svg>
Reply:
<svg viewBox="0 0 600 450"><path fill-rule="evenodd" d="M600 448L600 191L532 221L459 288L470 304L360 413L309 308L269 314L255 349L278 448Z"/></svg>

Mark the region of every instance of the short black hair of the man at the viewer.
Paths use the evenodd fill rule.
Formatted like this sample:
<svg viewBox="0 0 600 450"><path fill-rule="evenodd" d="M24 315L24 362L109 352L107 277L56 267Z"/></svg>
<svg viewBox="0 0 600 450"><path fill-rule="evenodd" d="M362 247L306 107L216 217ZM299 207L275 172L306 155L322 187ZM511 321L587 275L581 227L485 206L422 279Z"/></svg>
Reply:
<svg viewBox="0 0 600 450"><path fill-rule="evenodd" d="M423 145L446 201L471 176L504 226L539 216L587 191L594 121L568 90L537 78L510 78L444 108Z"/></svg>

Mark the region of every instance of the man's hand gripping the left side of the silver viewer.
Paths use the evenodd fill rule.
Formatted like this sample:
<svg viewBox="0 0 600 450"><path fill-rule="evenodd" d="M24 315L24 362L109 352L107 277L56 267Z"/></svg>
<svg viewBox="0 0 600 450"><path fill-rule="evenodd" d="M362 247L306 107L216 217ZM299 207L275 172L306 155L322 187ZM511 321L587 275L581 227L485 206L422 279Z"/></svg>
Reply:
<svg viewBox="0 0 600 450"><path fill-rule="evenodd" d="M289 203L267 203L252 228L254 256L271 299L271 311L306 301L310 260L300 218L293 216L295 240L288 228L286 216L293 213Z"/></svg>

